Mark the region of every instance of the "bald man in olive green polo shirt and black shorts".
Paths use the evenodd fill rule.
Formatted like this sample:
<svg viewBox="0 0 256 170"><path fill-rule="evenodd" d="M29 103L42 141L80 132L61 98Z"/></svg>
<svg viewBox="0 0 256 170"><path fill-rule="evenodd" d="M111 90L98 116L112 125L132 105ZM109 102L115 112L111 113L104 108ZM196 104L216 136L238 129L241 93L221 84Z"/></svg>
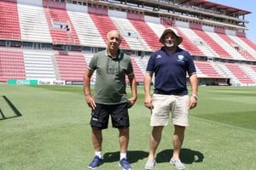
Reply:
<svg viewBox="0 0 256 170"><path fill-rule="evenodd" d="M123 170L131 170L126 152L129 143L128 109L137 100L137 82L131 65L131 58L125 56L120 49L119 31L108 32L107 48L90 59L88 71L84 73L84 95L87 105L92 109L90 126L95 157L89 168L95 169L102 162L102 129L108 128L111 116L112 125L119 129L119 166ZM96 71L95 93L90 94L90 77ZM126 94L125 75L131 84L131 98Z"/></svg>

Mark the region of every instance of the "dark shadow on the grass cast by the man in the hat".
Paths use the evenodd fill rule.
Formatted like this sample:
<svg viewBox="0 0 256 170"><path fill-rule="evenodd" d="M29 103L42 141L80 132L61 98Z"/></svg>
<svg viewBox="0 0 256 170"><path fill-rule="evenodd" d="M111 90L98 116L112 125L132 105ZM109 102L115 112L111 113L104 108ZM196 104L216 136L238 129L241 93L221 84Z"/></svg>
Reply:
<svg viewBox="0 0 256 170"><path fill-rule="evenodd" d="M156 156L157 163L169 162L172 158L173 150L162 150ZM193 162L201 162L204 160L204 155L200 151L182 149L180 152L180 159L185 164L192 164Z"/></svg>

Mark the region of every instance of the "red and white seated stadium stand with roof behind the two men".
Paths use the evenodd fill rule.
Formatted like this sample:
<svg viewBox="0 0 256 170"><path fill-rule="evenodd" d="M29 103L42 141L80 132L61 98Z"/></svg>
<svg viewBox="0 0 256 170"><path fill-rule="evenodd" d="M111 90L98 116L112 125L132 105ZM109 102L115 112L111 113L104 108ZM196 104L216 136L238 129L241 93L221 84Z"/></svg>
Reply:
<svg viewBox="0 0 256 170"><path fill-rule="evenodd" d="M149 55L172 26L195 59L201 85L256 86L256 44L245 34L250 13L201 0L2 0L0 82L82 83L92 55L118 29L142 84Z"/></svg>

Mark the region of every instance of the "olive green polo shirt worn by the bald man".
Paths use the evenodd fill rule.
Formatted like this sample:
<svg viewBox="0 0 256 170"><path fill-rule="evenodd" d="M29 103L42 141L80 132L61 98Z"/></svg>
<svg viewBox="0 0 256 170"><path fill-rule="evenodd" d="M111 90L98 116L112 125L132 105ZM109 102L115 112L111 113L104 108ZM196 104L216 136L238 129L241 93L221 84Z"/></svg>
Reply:
<svg viewBox="0 0 256 170"><path fill-rule="evenodd" d="M90 59L89 70L96 71L96 103L115 105L127 101L125 75L133 74L130 57L119 52L118 57L112 59L107 50L103 50Z"/></svg>

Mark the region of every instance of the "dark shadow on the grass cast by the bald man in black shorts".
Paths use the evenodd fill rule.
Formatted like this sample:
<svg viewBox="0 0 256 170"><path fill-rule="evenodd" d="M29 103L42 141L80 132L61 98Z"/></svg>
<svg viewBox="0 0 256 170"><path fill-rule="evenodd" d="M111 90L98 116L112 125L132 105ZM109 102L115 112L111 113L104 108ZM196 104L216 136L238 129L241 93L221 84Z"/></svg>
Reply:
<svg viewBox="0 0 256 170"><path fill-rule="evenodd" d="M119 156L119 151L107 152L104 154L103 159L104 162L119 161ZM148 157L148 152L142 150L128 150L127 156L130 163L135 163L145 157Z"/></svg>

